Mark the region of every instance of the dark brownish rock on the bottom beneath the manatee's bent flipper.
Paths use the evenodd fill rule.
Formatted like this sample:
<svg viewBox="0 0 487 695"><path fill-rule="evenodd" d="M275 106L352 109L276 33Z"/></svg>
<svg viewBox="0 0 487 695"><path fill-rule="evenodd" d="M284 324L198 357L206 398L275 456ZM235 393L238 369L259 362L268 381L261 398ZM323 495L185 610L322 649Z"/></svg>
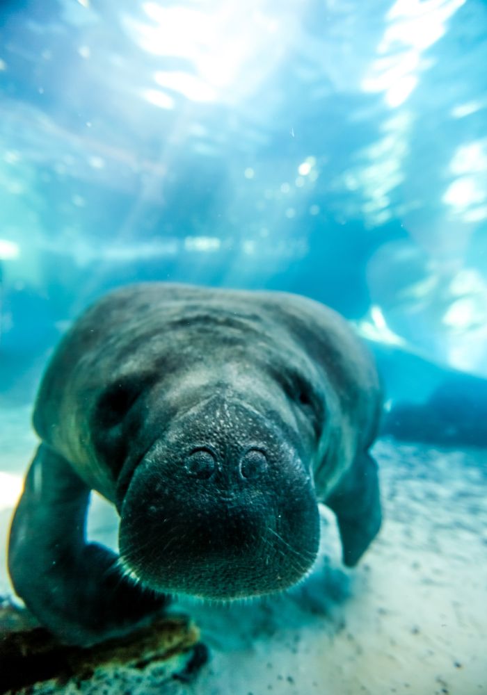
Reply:
<svg viewBox="0 0 487 695"><path fill-rule="evenodd" d="M207 649L186 616L165 616L91 648L66 646L30 614L0 604L0 693L160 693L179 689L205 664Z"/></svg>

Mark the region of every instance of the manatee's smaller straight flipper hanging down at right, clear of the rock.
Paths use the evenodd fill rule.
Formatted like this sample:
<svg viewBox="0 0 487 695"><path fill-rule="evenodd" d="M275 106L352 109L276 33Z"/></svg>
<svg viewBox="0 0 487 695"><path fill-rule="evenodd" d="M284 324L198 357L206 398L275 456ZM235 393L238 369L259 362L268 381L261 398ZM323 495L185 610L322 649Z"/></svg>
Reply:
<svg viewBox="0 0 487 695"><path fill-rule="evenodd" d="M376 537L382 521L377 464L369 453L358 455L326 505L337 516L343 562L353 567Z"/></svg>

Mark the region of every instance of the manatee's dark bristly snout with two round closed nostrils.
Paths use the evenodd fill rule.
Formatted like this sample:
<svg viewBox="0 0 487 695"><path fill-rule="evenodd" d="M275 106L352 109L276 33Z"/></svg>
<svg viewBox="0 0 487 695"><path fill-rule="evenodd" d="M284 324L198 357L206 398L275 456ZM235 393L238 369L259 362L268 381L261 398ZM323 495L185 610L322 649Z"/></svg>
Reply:
<svg viewBox="0 0 487 695"><path fill-rule="evenodd" d="M209 599L295 584L316 557L319 514L289 439L218 397L175 418L120 505L122 560L147 587Z"/></svg>

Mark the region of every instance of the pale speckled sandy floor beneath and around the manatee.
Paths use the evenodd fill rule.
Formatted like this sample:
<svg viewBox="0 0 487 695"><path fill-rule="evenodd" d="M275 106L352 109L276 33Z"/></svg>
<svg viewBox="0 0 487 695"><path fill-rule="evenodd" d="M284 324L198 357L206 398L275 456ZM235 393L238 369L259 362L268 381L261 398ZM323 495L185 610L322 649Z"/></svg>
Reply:
<svg viewBox="0 0 487 695"><path fill-rule="evenodd" d="M35 447L29 409L0 411L0 447L0 471L19 475ZM262 602L175 604L200 626L211 660L190 685L139 682L131 692L487 693L487 451L381 440L374 454L385 521L357 569L340 563L324 510L321 553L305 582ZM12 591L5 542L16 480L0 473L3 595ZM95 498L90 537L113 545L116 528Z"/></svg>

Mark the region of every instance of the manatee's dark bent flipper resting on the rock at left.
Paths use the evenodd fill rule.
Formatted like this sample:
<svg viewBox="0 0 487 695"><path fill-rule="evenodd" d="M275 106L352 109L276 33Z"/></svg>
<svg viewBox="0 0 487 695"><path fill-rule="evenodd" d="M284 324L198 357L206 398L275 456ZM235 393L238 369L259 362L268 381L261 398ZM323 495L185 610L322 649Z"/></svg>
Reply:
<svg viewBox="0 0 487 695"><path fill-rule="evenodd" d="M127 632L167 598L125 577L118 556L86 543L90 491L70 464L41 444L10 530L17 594L59 639L83 646Z"/></svg>

